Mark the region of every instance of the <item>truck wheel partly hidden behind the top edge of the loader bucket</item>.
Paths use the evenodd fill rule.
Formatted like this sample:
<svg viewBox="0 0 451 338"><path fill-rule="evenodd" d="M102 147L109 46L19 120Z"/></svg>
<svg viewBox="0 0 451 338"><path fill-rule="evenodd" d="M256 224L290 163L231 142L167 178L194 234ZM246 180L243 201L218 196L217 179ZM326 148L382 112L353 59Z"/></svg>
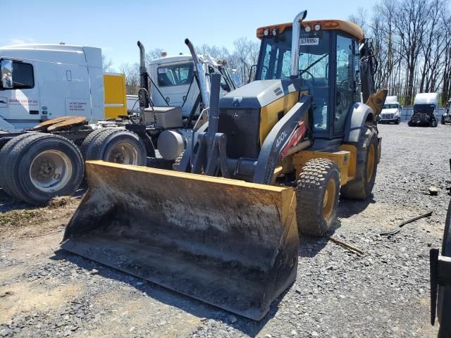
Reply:
<svg viewBox="0 0 451 338"><path fill-rule="evenodd" d="M147 151L142 139L128 130L111 129L100 133L89 145L88 160L146 165Z"/></svg>

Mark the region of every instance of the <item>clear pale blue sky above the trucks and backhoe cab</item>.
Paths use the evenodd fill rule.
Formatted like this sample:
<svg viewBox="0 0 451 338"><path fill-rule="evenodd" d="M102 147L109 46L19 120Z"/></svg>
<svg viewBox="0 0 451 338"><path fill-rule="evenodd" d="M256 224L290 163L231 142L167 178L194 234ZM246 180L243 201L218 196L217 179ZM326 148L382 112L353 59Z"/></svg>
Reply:
<svg viewBox="0 0 451 338"><path fill-rule="evenodd" d="M364 1L365 7L373 1ZM138 61L136 42L168 54L187 53L185 37L195 45L233 49L238 37L257 39L257 27L290 22L307 9L307 18L347 18L359 0L0 0L0 46L59 43L101 47L113 68ZM143 23L145 23L143 25ZM141 27L140 27L141 26Z"/></svg>

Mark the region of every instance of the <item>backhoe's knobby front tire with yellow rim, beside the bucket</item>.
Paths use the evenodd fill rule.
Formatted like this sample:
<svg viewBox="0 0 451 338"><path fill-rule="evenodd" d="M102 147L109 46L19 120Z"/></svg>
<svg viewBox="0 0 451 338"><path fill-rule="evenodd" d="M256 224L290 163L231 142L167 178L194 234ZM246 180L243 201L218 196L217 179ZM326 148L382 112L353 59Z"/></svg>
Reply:
<svg viewBox="0 0 451 338"><path fill-rule="evenodd" d="M338 165L326 158L305 163L296 188L296 214L299 232L321 237L333 224L340 194Z"/></svg>

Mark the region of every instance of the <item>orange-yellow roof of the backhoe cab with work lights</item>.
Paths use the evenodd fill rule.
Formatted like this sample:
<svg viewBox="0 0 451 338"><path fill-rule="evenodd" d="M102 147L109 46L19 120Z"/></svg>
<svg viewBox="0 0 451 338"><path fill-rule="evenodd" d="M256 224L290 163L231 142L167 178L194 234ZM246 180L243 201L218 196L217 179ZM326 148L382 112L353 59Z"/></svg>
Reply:
<svg viewBox="0 0 451 338"><path fill-rule="evenodd" d="M342 32L345 32L347 34L352 35L352 37L355 37L359 42L361 42L364 39L364 32L362 28L359 25L356 25L355 23L351 23L350 21L345 20L304 20L302 21L301 25L302 27L305 27L307 25L310 25L311 29L313 30L314 25L316 23L319 23L321 25L321 30L341 30ZM263 31L268 28L271 32L273 28L276 28L279 33L283 32L288 27L292 27L293 23L280 23L278 25L269 25L264 27L257 28L257 37L261 39L263 35Z"/></svg>

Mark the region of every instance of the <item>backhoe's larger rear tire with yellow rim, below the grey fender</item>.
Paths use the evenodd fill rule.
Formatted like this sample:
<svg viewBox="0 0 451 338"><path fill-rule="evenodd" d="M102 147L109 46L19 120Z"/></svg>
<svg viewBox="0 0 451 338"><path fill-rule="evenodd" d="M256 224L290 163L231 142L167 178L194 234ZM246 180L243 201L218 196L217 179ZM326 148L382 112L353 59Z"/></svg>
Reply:
<svg viewBox="0 0 451 338"><path fill-rule="evenodd" d="M345 199L366 199L373 191L378 168L378 135L371 125L366 125L357 146L357 168L354 180L341 188Z"/></svg>

